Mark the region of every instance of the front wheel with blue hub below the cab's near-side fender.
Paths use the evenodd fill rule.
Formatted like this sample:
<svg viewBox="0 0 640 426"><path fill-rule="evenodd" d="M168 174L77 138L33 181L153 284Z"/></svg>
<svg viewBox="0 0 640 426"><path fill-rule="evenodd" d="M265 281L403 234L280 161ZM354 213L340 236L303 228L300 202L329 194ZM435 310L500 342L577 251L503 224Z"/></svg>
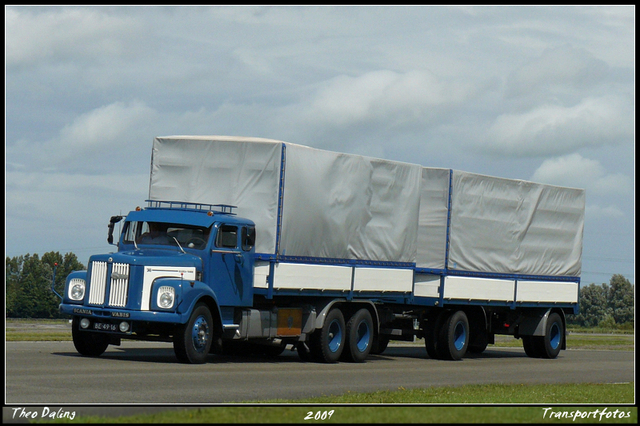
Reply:
<svg viewBox="0 0 640 426"><path fill-rule="evenodd" d="M209 355L213 334L211 311L207 305L199 303L189 321L179 326L173 336L173 350L178 360L185 364L203 364Z"/></svg>

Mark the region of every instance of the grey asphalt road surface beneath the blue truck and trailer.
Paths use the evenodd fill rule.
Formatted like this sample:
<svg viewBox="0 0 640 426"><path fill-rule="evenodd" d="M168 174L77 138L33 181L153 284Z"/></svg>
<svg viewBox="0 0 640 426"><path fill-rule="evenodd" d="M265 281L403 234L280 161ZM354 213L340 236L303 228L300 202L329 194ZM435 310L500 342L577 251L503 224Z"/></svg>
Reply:
<svg viewBox="0 0 640 426"><path fill-rule="evenodd" d="M301 362L211 355L202 365L176 361L166 343L123 341L99 358L71 342L7 342L8 406L21 404L215 404L299 399L482 383L619 383L635 379L634 353L567 350L555 360L521 348L489 348L461 361L429 359L422 346L390 346L366 363Z"/></svg>

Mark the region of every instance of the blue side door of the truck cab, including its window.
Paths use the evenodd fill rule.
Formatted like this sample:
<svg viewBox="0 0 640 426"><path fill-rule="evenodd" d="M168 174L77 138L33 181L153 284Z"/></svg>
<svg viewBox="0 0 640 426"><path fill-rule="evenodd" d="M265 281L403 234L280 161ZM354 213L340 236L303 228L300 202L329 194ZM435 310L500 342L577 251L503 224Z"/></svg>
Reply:
<svg viewBox="0 0 640 426"><path fill-rule="evenodd" d="M209 267L218 303L251 306L255 228L222 223L216 232Z"/></svg>

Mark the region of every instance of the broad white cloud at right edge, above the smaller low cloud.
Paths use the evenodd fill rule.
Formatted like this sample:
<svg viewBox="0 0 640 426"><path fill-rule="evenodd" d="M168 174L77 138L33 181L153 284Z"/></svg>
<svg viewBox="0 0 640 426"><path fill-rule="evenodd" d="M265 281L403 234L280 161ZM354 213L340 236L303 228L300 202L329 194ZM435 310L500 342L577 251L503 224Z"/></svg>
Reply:
<svg viewBox="0 0 640 426"><path fill-rule="evenodd" d="M504 156L546 156L632 137L633 118L622 99L589 97L569 107L547 104L502 114L489 128L484 148Z"/></svg>

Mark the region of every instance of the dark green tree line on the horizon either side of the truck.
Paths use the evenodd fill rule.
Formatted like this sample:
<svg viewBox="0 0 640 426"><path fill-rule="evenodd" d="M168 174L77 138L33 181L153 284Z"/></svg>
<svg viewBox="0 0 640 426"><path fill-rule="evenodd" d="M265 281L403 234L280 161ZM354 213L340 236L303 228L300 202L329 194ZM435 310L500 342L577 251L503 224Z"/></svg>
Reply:
<svg viewBox="0 0 640 426"><path fill-rule="evenodd" d="M67 275L86 269L73 253L62 256L59 252L48 252L42 257L26 254L6 258L7 318L65 317L58 311L60 299L51 291L54 268L58 293L62 292ZM569 315L567 321L582 327L633 328L633 286L621 274L613 275L608 284L582 286L580 313Z"/></svg>

